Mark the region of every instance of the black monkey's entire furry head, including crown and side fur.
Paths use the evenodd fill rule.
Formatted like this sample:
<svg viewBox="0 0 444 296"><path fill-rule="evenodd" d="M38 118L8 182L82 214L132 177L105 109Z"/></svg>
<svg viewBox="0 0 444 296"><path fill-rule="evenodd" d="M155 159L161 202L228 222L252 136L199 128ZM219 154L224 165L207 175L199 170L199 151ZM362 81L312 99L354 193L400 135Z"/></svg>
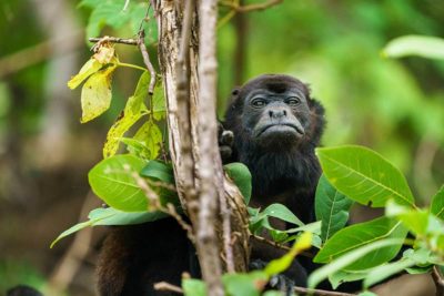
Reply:
<svg viewBox="0 0 444 296"><path fill-rule="evenodd" d="M286 152L317 145L324 110L300 80L264 74L232 92L225 127L232 130L238 152L245 144L265 152Z"/></svg>

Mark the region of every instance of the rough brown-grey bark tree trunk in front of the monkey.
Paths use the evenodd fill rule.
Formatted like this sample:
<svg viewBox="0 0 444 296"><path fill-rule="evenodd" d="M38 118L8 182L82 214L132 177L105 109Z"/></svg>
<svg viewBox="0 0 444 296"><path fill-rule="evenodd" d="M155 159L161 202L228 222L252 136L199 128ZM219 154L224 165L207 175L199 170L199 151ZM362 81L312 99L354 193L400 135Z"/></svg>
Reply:
<svg viewBox="0 0 444 296"><path fill-rule="evenodd" d="M170 154L178 192L198 238L196 248L203 277L209 284L211 295L220 295L220 273L226 271L230 263L233 266L230 269L246 269L250 254L248 213L239 190L222 171L218 150L214 19L211 28L208 28L211 32L205 32L210 35L203 37L206 40L204 42L210 40L211 44L205 43L209 48L200 52L204 54L200 61L205 59L205 64L199 73L204 88L199 88L198 54L201 34L198 19L200 16L203 21L205 17L214 16L216 1L203 0L198 4L192 18L189 52L181 57L181 34L186 31L182 30L183 2L185 1L162 0L155 3L160 39L159 62L168 101ZM178 75L183 71L188 73L186 79ZM205 100L202 101L203 104L199 104L199 99ZM224 224L224 217L225 222L228 217L230 222ZM224 235L226 226L231 228L231 233ZM228 253L231 254L226 256Z"/></svg>

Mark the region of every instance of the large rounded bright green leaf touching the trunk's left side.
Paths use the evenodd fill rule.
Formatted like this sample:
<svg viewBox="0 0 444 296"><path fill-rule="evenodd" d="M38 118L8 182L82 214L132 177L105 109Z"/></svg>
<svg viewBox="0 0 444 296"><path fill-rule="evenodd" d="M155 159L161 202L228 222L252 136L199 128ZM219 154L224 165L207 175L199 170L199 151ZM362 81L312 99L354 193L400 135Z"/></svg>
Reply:
<svg viewBox="0 0 444 296"><path fill-rule="evenodd" d="M108 205L124 212L148 211L148 200L133 176L147 162L133 155L115 155L98 163L88 174L92 191Z"/></svg>

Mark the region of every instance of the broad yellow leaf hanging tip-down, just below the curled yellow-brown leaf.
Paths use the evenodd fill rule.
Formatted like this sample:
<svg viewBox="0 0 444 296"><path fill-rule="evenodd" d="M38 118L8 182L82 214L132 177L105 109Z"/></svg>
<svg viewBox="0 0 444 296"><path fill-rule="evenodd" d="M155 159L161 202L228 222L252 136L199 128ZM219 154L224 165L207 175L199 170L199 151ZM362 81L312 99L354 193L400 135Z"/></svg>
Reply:
<svg viewBox="0 0 444 296"><path fill-rule="evenodd" d="M107 69L92 74L83 84L81 94L81 123L95 119L110 108L111 78L114 70L115 65L108 67Z"/></svg>

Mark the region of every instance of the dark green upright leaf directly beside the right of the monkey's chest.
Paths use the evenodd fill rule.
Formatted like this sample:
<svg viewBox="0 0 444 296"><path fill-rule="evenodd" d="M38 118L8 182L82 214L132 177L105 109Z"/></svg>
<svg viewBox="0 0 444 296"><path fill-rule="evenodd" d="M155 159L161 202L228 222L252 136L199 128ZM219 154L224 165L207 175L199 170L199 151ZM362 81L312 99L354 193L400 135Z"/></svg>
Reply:
<svg viewBox="0 0 444 296"><path fill-rule="evenodd" d="M345 226L352 204L352 200L336 191L324 175L321 176L314 205L316 220L322 221L321 238L323 242Z"/></svg>

